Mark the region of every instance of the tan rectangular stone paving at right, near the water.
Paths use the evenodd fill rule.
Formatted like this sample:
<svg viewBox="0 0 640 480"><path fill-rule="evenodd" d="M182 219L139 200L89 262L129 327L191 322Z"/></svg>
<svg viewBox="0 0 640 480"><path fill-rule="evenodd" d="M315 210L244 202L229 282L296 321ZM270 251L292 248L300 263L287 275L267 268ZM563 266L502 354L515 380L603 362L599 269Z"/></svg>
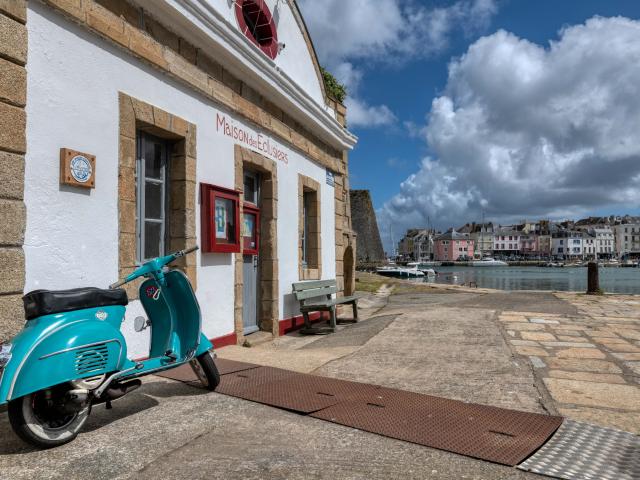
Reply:
<svg viewBox="0 0 640 480"><path fill-rule="evenodd" d="M500 314L512 349L529 358L560 414L640 433L640 297L556 296L577 314Z"/></svg>

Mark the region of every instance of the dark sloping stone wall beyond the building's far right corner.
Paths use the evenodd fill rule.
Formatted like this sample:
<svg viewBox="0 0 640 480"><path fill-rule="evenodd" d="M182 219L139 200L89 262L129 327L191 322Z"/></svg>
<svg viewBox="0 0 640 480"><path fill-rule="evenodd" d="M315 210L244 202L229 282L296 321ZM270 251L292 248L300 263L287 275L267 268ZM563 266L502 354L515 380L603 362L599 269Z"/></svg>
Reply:
<svg viewBox="0 0 640 480"><path fill-rule="evenodd" d="M351 190L350 198L351 222L357 234L356 263L383 262L384 249L369 190Z"/></svg>

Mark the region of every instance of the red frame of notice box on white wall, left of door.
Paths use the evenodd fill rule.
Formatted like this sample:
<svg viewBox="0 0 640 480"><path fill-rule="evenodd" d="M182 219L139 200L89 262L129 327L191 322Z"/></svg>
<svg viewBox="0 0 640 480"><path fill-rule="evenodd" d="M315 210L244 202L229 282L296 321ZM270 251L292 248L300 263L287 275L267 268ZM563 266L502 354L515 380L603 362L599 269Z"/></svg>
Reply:
<svg viewBox="0 0 640 480"><path fill-rule="evenodd" d="M233 202L233 243L222 243L215 233L216 198L224 198ZM200 184L200 226L202 231L202 251L205 253L239 253L240 252L240 192L229 188L218 187L208 183Z"/></svg>

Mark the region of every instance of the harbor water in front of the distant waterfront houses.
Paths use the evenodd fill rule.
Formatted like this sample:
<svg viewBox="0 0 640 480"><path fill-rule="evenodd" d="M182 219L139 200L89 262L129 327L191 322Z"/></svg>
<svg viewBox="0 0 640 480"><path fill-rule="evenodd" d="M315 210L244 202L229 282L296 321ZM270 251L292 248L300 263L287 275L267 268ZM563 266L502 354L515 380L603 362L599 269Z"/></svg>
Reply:
<svg viewBox="0 0 640 480"><path fill-rule="evenodd" d="M498 290L561 290L584 292L585 267L433 267L425 282L478 286ZM608 293L640 294L640 268L601 267L600 288Z"/></svg>

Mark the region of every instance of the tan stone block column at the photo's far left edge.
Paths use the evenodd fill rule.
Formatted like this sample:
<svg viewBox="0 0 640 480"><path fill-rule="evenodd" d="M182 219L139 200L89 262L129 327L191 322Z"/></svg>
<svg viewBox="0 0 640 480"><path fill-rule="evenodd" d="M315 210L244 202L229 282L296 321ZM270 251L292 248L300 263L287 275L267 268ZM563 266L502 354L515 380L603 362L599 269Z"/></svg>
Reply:
<svg viewBox="0 0 640 480"><path fill-rule="evenodd" d="M24 323L26 0L0 0L0 341Z"/></svg>

